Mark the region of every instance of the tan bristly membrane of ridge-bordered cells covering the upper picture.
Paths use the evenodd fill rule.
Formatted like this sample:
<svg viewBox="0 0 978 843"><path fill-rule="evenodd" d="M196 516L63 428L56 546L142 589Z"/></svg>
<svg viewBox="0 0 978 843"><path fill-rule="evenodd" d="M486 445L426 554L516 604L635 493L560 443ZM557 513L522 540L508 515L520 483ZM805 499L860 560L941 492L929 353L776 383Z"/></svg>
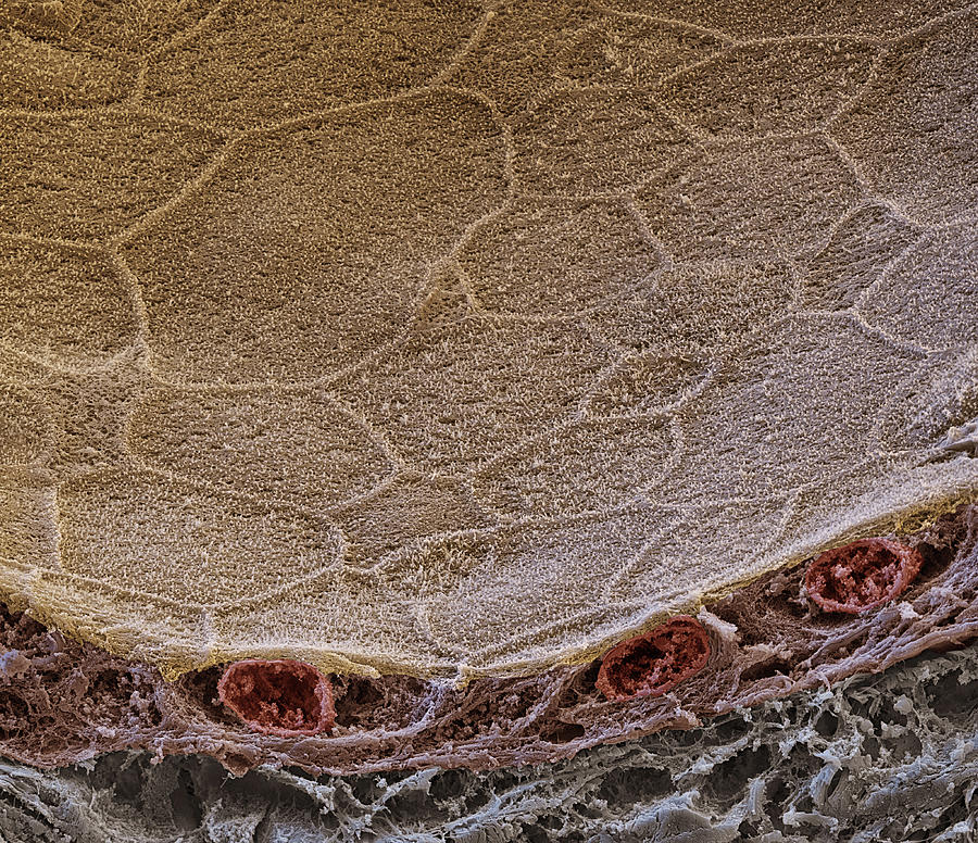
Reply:
<svg viewBox="0 0 978 843"><path fill-rule="evenodd" d="M511 674L975 498L974 7L77 5L0 35L15 607Z"/></svg>

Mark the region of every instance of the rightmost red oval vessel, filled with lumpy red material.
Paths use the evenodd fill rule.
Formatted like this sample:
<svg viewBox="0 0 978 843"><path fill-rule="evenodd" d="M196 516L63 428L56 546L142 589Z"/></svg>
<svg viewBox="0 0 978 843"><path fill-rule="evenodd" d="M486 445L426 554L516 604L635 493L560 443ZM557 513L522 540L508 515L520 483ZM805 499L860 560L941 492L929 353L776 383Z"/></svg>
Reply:
<svg viewBox="0 0 978 843"><path fill-rule="evenodd" d="M805 590L823 612L857 615L900 596L923 564L919 551L899 541L861 539L808 565Z"/></svg>

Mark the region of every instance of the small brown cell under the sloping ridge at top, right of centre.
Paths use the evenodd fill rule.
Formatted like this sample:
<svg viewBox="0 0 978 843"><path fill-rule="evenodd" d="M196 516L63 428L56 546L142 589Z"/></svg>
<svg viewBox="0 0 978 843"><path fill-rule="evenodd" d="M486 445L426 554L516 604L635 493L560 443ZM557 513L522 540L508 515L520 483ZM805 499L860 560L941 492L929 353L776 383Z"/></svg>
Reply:
<svg viewBox="0 0 978 843"><path fill-rule="evenodd" d="M649 87L720 47L719 38L679 22L603 16L568 40L559 73L578 85Z"/></svg>

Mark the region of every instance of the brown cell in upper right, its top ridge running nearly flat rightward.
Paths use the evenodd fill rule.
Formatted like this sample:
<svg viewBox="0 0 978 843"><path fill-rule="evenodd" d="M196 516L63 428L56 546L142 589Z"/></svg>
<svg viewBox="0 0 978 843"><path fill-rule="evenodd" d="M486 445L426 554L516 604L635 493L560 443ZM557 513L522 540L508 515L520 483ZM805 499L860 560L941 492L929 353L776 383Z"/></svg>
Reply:
<svg viewBox="0 0 978 843"><path fill-rule="evenodd" d="M858 92L876 51L853 39L736 47L660 91L680 123L718 137L811 131Z"/></svg>

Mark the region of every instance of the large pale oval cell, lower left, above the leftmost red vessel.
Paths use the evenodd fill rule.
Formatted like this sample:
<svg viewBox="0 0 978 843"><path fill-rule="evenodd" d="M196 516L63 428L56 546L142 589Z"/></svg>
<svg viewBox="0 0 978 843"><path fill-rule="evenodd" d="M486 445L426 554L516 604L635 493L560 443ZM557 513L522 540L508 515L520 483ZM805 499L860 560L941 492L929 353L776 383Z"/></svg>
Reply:
<svg viewBox="0 0 978 843"><path fill-rule="evenodd" d="M87 475L58 501L66 571L178 603L256 597L342 557L323 518L152 476Z"/></svg>

